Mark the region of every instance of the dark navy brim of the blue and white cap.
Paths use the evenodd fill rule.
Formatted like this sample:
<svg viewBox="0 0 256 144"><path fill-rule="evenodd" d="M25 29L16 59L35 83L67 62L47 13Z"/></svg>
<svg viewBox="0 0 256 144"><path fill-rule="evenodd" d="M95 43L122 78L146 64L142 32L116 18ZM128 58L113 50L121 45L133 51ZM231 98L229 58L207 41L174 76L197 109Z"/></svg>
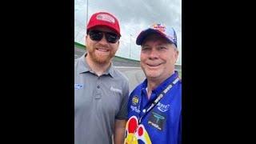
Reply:
<svg viewBox="0 0 256 144"><path fill-rule="evenodd" d="M136 44L137 45L142 45L142 42L144 41L144 39L149 35L149 34L160 34L163 38L166 38L165 34L162 34L162 32L160 32L159 30L154 30L154 29L146 29L143 30L140 34L138 34L138 37L136 39ZM169 38L166 38L166 40L170 43L174 43L172 41L170 41Z"/></svg>

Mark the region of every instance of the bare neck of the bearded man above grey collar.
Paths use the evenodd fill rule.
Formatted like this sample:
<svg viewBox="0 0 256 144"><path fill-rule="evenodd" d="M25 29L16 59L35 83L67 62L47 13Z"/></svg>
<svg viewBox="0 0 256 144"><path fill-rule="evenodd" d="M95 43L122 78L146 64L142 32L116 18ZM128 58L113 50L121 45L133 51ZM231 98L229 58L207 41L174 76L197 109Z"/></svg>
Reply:
<svg viewBox="0 0 256 144"><path fill-rule="evenodd" d="M110 67L111 62L98 63L91 60L90 55L86 55L86 62L98 76L101 76Z"/></svg>

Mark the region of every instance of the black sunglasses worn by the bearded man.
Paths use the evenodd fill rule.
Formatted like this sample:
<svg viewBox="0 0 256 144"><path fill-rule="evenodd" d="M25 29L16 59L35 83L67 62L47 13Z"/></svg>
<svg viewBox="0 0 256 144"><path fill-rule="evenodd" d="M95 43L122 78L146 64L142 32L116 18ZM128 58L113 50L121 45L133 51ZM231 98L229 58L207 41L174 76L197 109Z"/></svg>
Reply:
<svg viewBox="0 0 256 144"><path fill-rule="evenodd" d="M103 34L105 34L106 42L115 43L118 42L118 39L120 38L118 34L114 34L111 32L103 32L100 30L90 30L88 32L90 35L90 39L93 41L100 41L103 38Z"/></svg>

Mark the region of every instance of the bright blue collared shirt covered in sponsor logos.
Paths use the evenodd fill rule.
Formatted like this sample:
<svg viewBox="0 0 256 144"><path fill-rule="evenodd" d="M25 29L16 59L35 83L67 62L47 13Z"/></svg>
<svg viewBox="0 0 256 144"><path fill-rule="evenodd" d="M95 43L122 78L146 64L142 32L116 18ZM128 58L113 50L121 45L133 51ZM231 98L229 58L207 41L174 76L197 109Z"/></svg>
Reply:
<svg viewBox="0 0 256 144"><path fill-rule="evenodd" d="M162 82L152 91L150 99L147 98L147 80L138 85L131 92L128 102L128 117L126 123L126 143L138 141L138 143L179 144L182 134L182 82L175 83L162 97L156 106L142 118L142 110L158 97L170 83L178 78L175 71L170 78Z"/></svg>

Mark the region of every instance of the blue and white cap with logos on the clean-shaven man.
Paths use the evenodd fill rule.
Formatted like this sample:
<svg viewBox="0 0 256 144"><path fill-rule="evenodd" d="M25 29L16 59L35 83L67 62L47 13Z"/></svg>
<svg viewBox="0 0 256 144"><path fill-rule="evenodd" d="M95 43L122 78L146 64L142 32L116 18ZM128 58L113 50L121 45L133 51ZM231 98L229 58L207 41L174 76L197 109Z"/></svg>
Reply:
<svg viewBox="0 0 256 144"><path fill-rule="evenodd" d="M162 24L153 24L150 26L150 28L142 30L142 32L138 34L136 44L142 45L142 42L149 34L160 34L163 36L163 38L166 38L168 42L174 43L174 45L177 47L177 35L174 28L169 28Z"/></svg>

